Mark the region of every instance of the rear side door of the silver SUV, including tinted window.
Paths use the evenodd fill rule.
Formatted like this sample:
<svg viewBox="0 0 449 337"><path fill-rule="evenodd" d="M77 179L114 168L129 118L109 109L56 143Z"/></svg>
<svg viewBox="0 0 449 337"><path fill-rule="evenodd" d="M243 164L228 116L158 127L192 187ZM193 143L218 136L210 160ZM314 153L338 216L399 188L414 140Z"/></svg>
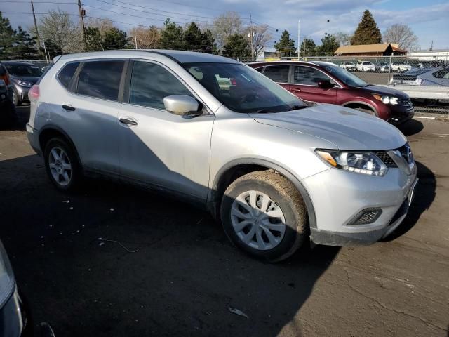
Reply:
<svg viewBox="0 0 449 337"><path fill-rule="evenodd" d="M67 64L58 81L68 86L55 98L52 119L72 138L83 166L119 176L119 89L125 60L88 60Z"/></svg>

